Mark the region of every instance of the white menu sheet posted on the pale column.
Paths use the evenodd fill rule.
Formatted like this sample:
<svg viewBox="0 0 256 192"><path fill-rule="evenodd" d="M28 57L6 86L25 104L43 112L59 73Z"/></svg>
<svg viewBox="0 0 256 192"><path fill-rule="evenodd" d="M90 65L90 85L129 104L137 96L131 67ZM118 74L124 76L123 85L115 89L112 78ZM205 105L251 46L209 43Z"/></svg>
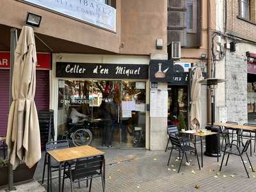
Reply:
<svg viewBox="0 0 256 192"><path fill-rule="evenodd" d="M150 91L150 117L167 117L168 115L168 92Z"/></svg>

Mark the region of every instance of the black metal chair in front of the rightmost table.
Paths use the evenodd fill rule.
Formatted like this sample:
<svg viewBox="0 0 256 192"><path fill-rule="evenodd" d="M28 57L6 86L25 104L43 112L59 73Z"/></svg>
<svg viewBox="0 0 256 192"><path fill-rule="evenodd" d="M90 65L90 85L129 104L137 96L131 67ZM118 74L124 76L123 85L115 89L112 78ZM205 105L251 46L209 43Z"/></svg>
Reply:
<svg viewBox="0 0 256 192"><path fill-rule="evenodd" d="M241 143L242 146L243 146L243 148L240 148L238 145L234 144L234 143L233 143L234 141L237 141L237 142ZM235 156L240 156L240 157L241 157L241 160L242 160L243 165L244 165L244 169L245 169L245 171L246 171L246 173L247 173L248 178L250 178L250 176L249 176L249 174L248 174L248 171L247 171L247 169L246 169L246 166L245 166L245 164L244 164L244 160L243 160L242 155L243 155L244 153L246 154L246 156L247 156L247 158L248 158L248 161L249 161L249 163L250 163L250 166L251 166L251 168L252 168L252 171L254 172L252 163L251 163L251 161L250 161L250 159L249 159L249 156L248 156L248 154L247 154L247 152L246 152L247 149L248 149L248 147L249 147L249 145L250 145L250 143L251 143L251 141L252 141L251 139L248 139L248 140L246 141L245 145L244 145L242 141L233 140L233 141L229 144L230 147L228 147L228 146L226 145L226 147L225 147L225 152L223 153L223 157L222 157L222 160L221 160L220 172L221 172L221 168L222 168L222 164L223 164L225 155L228 154L227 161L226 161L226 164L225 164L225 166L227 166L228 158L229 158L230 154L233 154L233 155L235 155Z"/></svg>

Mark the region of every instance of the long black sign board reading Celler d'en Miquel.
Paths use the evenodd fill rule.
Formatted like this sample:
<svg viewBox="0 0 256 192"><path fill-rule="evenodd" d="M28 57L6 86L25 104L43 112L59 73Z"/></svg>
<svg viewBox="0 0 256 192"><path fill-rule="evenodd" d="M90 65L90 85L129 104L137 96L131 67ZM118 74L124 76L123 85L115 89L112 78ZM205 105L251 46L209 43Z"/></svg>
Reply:
<svg viewBox="0 0 256 192"><path fill-rule="evenodd" d="M56 62L56 77L148 79L148 65Z"/></svg>

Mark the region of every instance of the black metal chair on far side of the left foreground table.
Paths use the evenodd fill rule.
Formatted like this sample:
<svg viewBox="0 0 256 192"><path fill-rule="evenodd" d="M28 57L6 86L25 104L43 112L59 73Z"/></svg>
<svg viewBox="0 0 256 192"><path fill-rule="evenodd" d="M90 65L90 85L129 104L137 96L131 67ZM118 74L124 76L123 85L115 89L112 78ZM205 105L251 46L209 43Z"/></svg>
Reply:
<svg viewBox="0 0 256 192"><path fill-rule="evenodd" d="M68 148L69 144L67 140L60 140L60 141L50 141L46 143L45 145L45 157L44 157L44 170L43 170L43 178L42 178L42 184L44 184L44 175L45 175L45 166L49 166L48 162L48 154L47 151L54 150L54 149L60 149L60 148ZM58 171L59 163L55 161L53 158L51 158L51 172ZM52 174L50 174L50 180L52 180Z"/></svg>

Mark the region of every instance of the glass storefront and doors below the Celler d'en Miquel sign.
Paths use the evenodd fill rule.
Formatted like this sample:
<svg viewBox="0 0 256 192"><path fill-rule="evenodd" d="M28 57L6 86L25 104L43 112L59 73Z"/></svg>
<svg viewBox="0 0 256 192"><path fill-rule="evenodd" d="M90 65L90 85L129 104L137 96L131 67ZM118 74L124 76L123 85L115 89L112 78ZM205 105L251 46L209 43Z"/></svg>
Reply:
<svg viewBox="0 0 256 192"><path fill-rule="evenodd" d="M145 82L59 80L58 135L86 122L93 147L145 147L145 95Z"/></svg>

